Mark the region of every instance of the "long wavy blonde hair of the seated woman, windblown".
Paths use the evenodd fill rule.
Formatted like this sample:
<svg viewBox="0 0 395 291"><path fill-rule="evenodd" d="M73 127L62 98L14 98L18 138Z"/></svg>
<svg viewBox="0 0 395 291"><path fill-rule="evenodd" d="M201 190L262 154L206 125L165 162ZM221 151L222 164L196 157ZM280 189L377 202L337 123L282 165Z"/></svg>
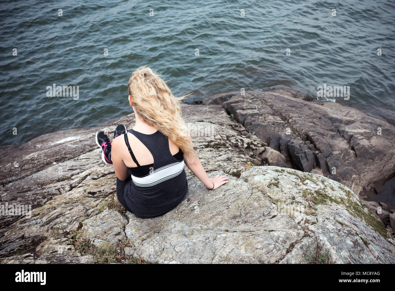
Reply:
<svg viewBox="0 0 395 291"><path fill-rule="evenodd" d="M179 104L188 95L175 97L160 74L141 66L128 82L133 108L141 120L170 138L187 156L194 155L193 144L182 119Z"/></svg>

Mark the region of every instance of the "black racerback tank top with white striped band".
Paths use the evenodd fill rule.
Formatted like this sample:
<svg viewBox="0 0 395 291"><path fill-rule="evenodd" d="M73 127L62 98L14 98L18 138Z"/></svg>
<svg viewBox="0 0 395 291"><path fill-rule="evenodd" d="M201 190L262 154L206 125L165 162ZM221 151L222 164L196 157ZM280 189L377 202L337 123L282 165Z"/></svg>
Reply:
<svg viewBox="0 0 395 291"><path fill-rule="evenodd" d="M156 217L175 208L184 199L188 191L188 182L184 170L183 153L171 155L167 136L159 130L153 134L143 134L129 130L150 151L154 163L145 176L135 175L136 168L129 168L131 183L125 186L124 200L128 208L141 218ZM140 166L130 148L127 134L124 134L126 146L133 161ZM179 159L176 159L179 158Z"/></svg>

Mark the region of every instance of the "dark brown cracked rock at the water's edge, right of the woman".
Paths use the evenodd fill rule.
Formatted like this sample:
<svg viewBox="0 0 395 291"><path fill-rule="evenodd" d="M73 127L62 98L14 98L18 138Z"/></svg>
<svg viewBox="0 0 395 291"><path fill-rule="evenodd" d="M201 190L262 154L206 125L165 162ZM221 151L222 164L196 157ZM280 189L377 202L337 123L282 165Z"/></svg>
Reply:
<svg viewBox="0 0 395 291"><path fill-rule="evenodd" d="M359 195L364 200L382 192L384 183L395 173L395 127L335 102L310 101L312 98L297 91L270 89L246 91L244 96L240 92L219 94L206 98L203 104L222 104L235 116L238 110L254 111L245 109L254 106L259 115L254 111L236 121L280 151L287 167L311 171L314 168L311 160L313 163L315 160L326 177L344 185L349 185L353 176L361 177ZM378 128L382 129L381 134ZM284 135L287 138L282 141ZM304 155L296 150L288 157L288 138L301 138L316 158L304 150ZM303 145L299 143L299 146Z"/></svg>

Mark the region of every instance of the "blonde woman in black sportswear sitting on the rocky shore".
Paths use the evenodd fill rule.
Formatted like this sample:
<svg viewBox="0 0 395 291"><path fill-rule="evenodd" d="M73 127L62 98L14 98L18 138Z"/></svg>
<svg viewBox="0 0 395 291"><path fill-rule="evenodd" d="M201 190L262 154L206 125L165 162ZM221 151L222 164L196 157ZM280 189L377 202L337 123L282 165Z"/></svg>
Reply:
<svg viewBox="0 0 395 291"><path fill-rule="evenodd" d="M184 164L208 189L228 183L225 176L209 178L196 156L179 107L185 96L173 96L145 66L133 72L128 89L134 127L126 132L118 125L112 144L103 131L96 134L103 162L114 166L117 197L126 210L150 218L175 208L188 190Z"/></svg>

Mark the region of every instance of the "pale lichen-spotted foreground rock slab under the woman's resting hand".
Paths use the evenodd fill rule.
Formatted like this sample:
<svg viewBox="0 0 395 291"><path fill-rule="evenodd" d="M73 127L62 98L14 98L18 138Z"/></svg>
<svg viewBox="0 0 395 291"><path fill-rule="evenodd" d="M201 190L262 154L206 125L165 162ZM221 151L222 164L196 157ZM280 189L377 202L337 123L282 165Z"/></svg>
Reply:
<svg viewBox="0 0 395 291"><path fill-rule="evenodd" d="M154 263L305 263L307 251L318 245L333 263L395 262L395 246L376 232L384 234L384 226L363 212L355 194L349 212L339 183L282 170L248 168L213 193L192 178L187 199L174 212L149 220L130 216L125 233L134 246L132 255ZM309 187L304 179L310 179ZM306 191L314 197L310 202ZM273 202L304 211L278 213Z"/></svg>

